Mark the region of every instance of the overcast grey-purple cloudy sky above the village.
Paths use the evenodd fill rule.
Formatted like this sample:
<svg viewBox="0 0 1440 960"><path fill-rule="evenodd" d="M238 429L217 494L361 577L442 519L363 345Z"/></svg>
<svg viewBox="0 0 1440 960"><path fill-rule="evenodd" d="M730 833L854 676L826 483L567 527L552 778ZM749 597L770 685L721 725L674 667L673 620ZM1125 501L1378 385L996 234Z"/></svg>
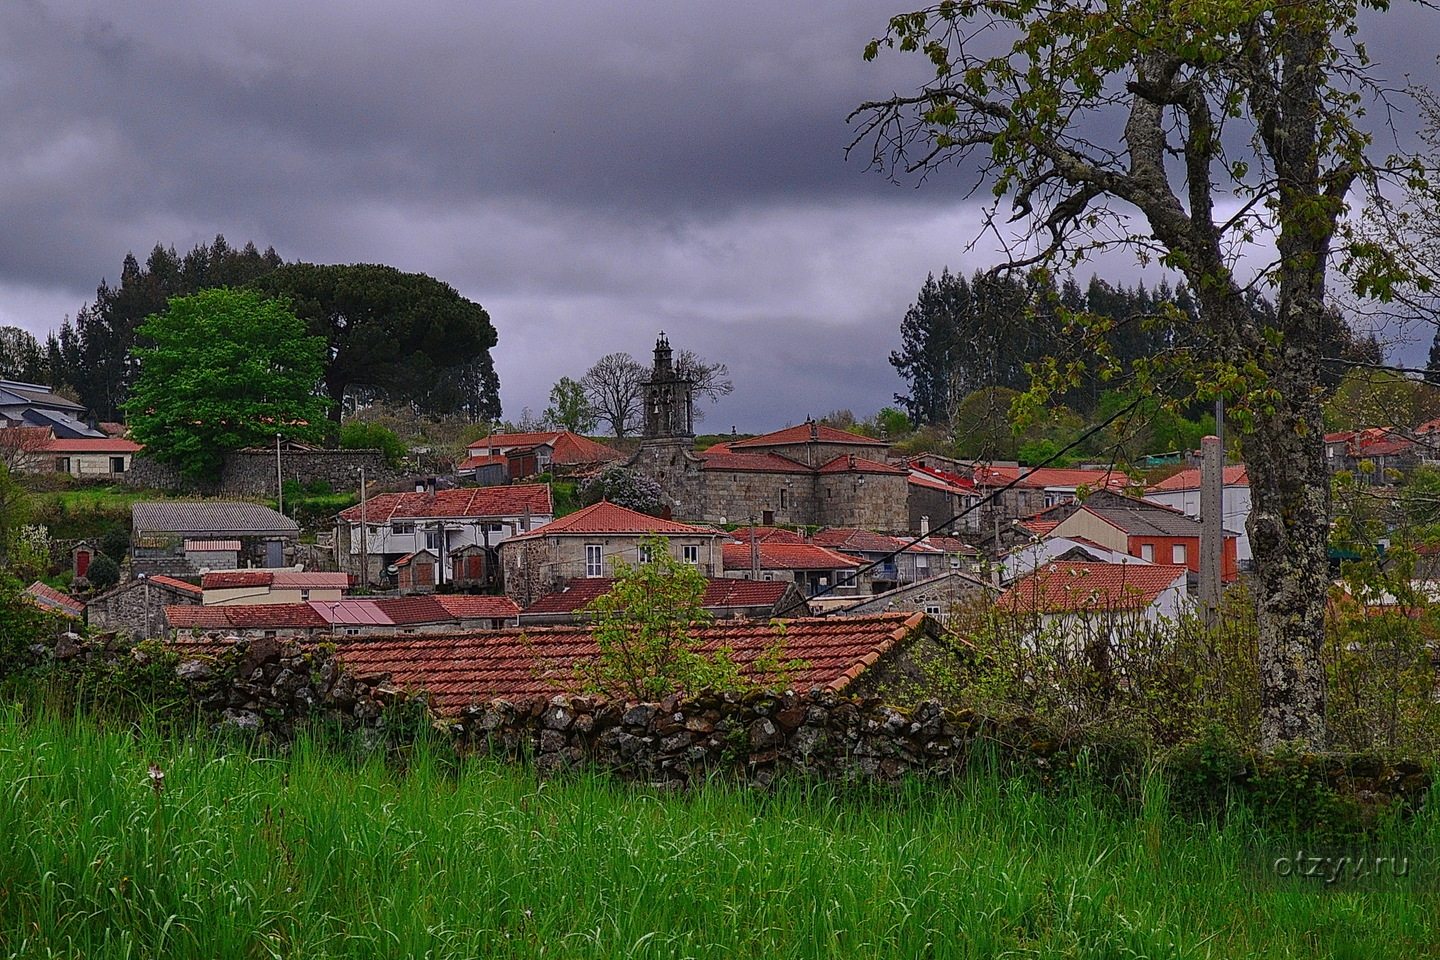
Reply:
<svg viewBox="0 0 1440 960"><path fill-rule="evenodd" d="M703 430L864 417L903 391L926 275L998 262L958 173L845 160L847 114L926 76L861 59L899 9L3 0L0 324L43 337L127 252L223 233L451 284L495 324L511 419L660 331L730 368ZM1440 13L1365 27L1378 75L1434 76Z"/></svg>

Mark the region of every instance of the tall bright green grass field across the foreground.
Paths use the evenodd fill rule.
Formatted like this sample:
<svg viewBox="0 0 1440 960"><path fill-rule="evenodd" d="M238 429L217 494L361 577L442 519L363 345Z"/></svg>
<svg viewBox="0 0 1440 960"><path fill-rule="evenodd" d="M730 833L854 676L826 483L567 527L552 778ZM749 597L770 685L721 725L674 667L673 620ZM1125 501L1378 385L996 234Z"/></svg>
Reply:
<svg viewBox="0 0 1440 960"><path fill-rule="evenodd" d="M1421 957L1433 865L978 773L657 794L418 750L403 773L0 708L0 957ZM164 792L147 767L164 771ZM1387 842L1434 851L1431 812Z"/></svg>

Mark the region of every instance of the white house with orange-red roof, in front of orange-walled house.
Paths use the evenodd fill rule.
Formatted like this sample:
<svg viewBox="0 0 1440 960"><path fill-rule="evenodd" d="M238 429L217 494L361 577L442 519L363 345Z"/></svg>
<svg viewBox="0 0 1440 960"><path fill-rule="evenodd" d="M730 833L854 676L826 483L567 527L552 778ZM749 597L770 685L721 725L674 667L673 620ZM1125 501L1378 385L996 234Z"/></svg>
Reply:
<svg viewBox="0 0 1440 960"><path fill-rule="evenodd" d="M995 602L1032 642L1073 651L1115 646L1175 623L1189 609L1187 571L1174 564L1050 563Z"/></svg>

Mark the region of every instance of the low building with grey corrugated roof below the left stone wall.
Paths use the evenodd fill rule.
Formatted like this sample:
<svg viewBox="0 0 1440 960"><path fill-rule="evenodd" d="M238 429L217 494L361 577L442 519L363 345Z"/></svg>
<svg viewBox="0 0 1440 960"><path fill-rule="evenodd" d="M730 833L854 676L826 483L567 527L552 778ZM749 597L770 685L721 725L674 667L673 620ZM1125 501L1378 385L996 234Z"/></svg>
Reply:
<svg viewBox="0 0 1440 960"><path fill-rule="evenodd" d="M215 541L235 541L228 566L292 567L300 525L262 504L242 501L144 501L130 508L131 570L197 577ZM192 553L192 545L202 547Z"/></svg>

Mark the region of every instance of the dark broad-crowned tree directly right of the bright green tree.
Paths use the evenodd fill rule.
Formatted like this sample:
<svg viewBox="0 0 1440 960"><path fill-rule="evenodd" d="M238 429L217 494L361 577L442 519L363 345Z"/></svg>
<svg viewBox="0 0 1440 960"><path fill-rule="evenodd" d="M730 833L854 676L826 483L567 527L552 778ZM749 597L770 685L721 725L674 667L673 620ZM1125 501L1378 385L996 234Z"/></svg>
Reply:
<svg viewBox="0 0 1440 960"><path fill-rule="evenodd" d="M500 417L497 343L490 314L454 286L380 263L287 263L249 285L287 296L310 334L328 345L331 416L361 391L429 413Z"/></svg>

